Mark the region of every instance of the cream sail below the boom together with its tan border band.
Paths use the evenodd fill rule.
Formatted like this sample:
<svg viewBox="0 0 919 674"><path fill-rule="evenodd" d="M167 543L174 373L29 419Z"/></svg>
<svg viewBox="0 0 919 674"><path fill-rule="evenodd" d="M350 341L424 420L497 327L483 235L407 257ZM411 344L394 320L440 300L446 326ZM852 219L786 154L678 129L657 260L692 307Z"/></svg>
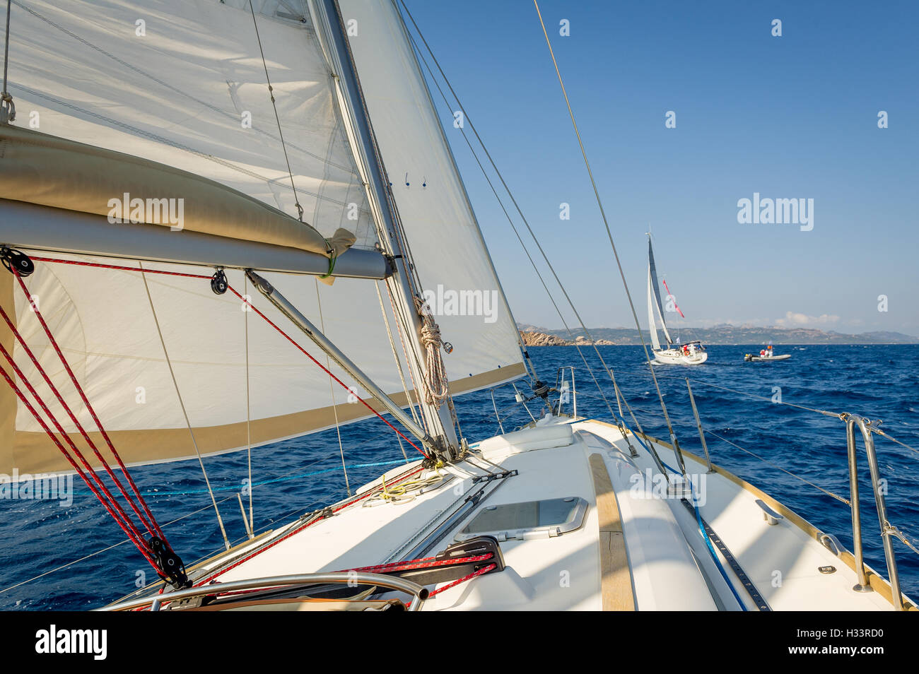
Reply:
<svg viewBox="0 0 919 674"><path fill-rule="evenodd" d="M55 255L93 264L128 265L124 260ZM144 264L148 269L210 275L212 269L179 265ZM68 376L62 372L36 315L13 277L3 271L0 292L7 313L15 307L17 330L25 337L40 365L51 376L62 397L87 431L95 425ZM264 298L246 288L242 272L227 271L240 293L253 296L263 311L323 365L325 358L299 332L289 326ZM404 401L402 383L380 319L372 281L340 278L335 286L318 285L312 278L266 274L303 313L349 354L357 365L388 394ZM242 448L251 430L255 444L297 436L339 421L362 419L369 413L349 391L329 377L282 335L255 313L244 313L232 293L214 295L207 278L147 275L156 320L188 419L203 454ZM60 263L36 263L26 279L28 293L49 321L52 333L74 370L96 413L110 432L119 453L130 463L152 463L194 456L187 424L169 373L163 345L139 272ZM317 300L322 300L322 305ZM385 294L385 291L384 291ZM342 310L340 303L346 303ZM337 306L336 306L337 305ZM322 315L320 315L322 309ZM245 320L248 317L249 409L246 413ZM85 446L75 426L62 411L50 388L30 362L6 324L0 341L17 365L49 404L74 442ZM397 347L398 348L398 347ZM523 374L518 366L503 364L476 376L457 377L456 392L501 383ZM5 366L6 369L6 366ZM355 382L334 364L330 368L352 391L368 398ZM20 473L66 470L58 450L40 425L4 385L0 391L0 429L14 427L15 434L0 438L0 472ZM247 419L251 428L247 429ZM380 432L391 432L380 421ZM101 445L100 445L101 446Z"/></svg>

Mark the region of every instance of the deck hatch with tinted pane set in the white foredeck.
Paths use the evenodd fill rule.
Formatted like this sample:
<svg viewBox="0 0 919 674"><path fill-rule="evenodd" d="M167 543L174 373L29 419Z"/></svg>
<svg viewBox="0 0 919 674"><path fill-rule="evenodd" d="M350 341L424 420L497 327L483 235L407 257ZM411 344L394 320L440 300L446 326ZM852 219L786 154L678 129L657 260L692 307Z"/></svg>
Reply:
<svg viewBox="0 0 919 674"><path fill-rule="evenodd" d="M491 534L499 540L529 535L557 536L574 531L584 523L587 501L569 496L562 499L528 500L491 505L456 535L456 540Z"/></svg>

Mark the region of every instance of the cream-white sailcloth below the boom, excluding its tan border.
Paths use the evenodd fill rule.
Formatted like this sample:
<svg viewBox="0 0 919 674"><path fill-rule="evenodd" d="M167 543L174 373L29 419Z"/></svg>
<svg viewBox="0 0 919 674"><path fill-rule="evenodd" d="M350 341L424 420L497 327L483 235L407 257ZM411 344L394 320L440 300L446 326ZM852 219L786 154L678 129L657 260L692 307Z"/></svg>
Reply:
<svg viewBox="0 0 919 674"><path fill-rule="evenodd" d="M62 255L54 257L65 259ZM66 257L90 263L126 264L124 260ZM205 276L213 272L205 267L165 264L144 267ZM256 308L308 352L318 353L277 309L254 292L251 285L245 285L242 272L227 270L226 274L233 288L253 298ZM208 278L155 274L146 277L156 320L192 425L219 426L246 419L246 318L251 417L274 417L330 404L328 376L265 320L252 312L246 314L242 301L233 293L214 295ZM372 281L339 279L334 287L320 286L324 318L321 321L317 286L312 277L267 277L317 325L324 322L325 330L335 342L353 354L384 390L402 388L380 320L362 322L357 316L347 317L345 312L329 310L335 298L348 295L354 301L352 309L363 306L368 311L375 309L379 315ZM50 324L55 339L107 428L117 431L185 427L157 322L139 272L39 262L26 284L42 314L54 317ZM350 292L345 291L345 286L351 286ZM47 371L59 373L61 367L55 365L57 354L50 348L36 315L18 287L14 297L18 330L36 354L40 354L40 363ZM385 344L386 349L361 348L368 344ZM42 399L53 400L28 355L17 347L15 357ZM325 364L324 356L317 355L317 359ZM353 384L334 365L331 369L348 385ZM55 383L61 385L65 397L70 397L74 410L82 410L83 405L67 377L60 379L55 377ZM365 395L362 390L357 391L362 397ZM346 399L347 392L339 388L335 396ZM60 415L60 419L66 430L74 430L66 415ZM88 415L81 421L92 424ZM17 428L40 430L28 410L19 410Z"/></svg>

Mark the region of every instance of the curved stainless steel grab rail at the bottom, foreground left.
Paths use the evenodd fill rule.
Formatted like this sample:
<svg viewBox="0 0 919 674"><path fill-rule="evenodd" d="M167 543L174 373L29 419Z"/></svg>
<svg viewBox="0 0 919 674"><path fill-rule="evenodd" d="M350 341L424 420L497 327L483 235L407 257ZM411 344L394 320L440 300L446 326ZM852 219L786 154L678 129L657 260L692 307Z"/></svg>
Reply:
<svg viewBox="0 0 919 674"><path fill-rule="evenodd" d="M376 585L391 590L402 590L407 594L413 595L412 602L408 606L409 611L417 611L423 601L427 599L427 589L418 585L411 580L401 579L396 576L384 576L379 573L357 573L354 571L335 572L335 573L304 573L293 576L272 576L269 578L250 579L250 580L233 580L228 583L214 583L212 585L202 585L199 588L187 588L186 590L173 590L164 592L153 597L142 597L130 601L120 601L117 604L104 606L96 611L130 611L149 606L151 611L159 611L164 603L190 599L191 597L200 597L208 594L221 594L235 590L252 590L255 588L271 588L273 590L279 587L297 587L301 585L316 585L320 583L349 583L356 585Z"/></svg>

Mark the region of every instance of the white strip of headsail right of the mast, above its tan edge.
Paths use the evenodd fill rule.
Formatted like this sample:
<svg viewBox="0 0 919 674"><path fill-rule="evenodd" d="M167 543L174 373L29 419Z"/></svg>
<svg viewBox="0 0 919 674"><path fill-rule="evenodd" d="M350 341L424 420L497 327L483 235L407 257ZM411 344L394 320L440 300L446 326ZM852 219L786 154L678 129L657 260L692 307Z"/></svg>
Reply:
<svg viewBox="0 0 919 674"><path fill-rule="evenodd" d="M398 11L390 0L339 5L346 25L357 22L349 44L369 116L418 274L454 346L444 355L450 380L520 363L516 326Z"/></svg>

